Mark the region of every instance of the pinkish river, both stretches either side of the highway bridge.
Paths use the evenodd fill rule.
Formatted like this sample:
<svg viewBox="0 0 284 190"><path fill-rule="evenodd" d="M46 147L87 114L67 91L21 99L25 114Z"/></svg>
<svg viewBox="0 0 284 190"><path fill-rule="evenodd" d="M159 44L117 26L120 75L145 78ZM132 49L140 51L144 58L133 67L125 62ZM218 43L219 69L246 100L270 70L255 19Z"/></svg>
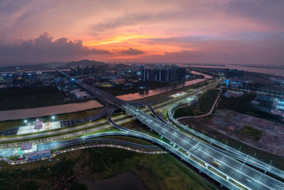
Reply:
<svg viewBox="0 0 284 190"><path fill-rule="evenodd" d="M202 73L197 73L195 71L192 71L193 74L198 75L204 75ZM186 81L185 83L178 83L174 85L168 85L160 88L155 88L151 90L143 90L139 93L131 93L127 95L119 95L121 100L137 100L143 97L148 97L151 95L158 95L160 93L165 93L170 90L175 90L177 88L182 88L187 85L192 85L195 83L200 83L208 78L212 78L209 75L204 75L204 79L195 79ZM82 110L88 110L96 107L102 107L103 105L97 102L96 100L89 100L87 102L82 103L71 103L71 104L65 104L65 105L53 105L48 107L37 107L37 108L28 108L28 109L22 109L22 110L7 110L7 111L1 111L0 112L0 121L3 120L20 120L30 117L43 117L45 115L57 115L67 112L78 112Z"/></svg>

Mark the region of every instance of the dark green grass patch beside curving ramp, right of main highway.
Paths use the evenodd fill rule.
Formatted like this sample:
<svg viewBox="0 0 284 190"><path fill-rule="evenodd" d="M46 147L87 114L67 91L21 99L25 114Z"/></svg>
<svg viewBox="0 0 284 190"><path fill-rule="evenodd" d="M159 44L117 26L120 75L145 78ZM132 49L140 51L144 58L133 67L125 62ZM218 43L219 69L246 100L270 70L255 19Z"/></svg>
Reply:
<svg viewBox="0 0 284 190"><path fill-rule="evenodd" d="M204 115L209 112L214 104L220 90L212 89L205 92L194 105L180 107L175 110L174 117Z"/></svg>

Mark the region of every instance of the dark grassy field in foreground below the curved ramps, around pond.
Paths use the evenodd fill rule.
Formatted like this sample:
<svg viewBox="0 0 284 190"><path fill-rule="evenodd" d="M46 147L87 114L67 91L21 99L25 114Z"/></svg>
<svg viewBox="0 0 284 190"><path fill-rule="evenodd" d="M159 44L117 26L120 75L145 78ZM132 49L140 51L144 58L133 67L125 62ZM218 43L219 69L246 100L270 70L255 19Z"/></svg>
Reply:
<svg viewBox="0 0 284 190"><path fill-rule="evenodd" d="M104 147L66 152L51 162L0 164L1 189L87 189L84 181L107 179L125 171L135 173L146 189L215 189L170 154Z"/></svg>

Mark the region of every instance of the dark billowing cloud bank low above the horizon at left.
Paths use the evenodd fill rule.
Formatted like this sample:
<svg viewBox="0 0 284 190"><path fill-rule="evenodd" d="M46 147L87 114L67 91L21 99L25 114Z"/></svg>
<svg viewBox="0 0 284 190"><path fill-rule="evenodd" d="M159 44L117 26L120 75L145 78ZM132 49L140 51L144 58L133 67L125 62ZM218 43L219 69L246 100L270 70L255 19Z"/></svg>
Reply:
<svg viewBox="0 0 284 190"><path fill-rule="evenodd" d="M88 49L80 40L69 41L67 38L58 38L53 41L53 37L45 32L34 40L23 41L20 46L0 45L0 63L68 61L107 53L109 51Z"/></svg>

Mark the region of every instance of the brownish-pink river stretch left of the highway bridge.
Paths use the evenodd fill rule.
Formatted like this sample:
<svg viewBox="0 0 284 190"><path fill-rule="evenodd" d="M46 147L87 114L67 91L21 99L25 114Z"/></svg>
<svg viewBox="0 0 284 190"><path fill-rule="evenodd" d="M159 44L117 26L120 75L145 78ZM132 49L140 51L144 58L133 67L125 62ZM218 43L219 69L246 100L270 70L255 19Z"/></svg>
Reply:
<svg viewBox="0 0 284 190"><path fill-rule="evenodd" d="M0 121L4 120L20 120L30 117L43 117L45 115L57 115L66 112L78 112L82 110L89 110L95 107L102 107L103 105L96 100L89 100L87 102L72 103L65 105L53 105L47 107L28 108L23 110L7 110L0 112Z"/></svg>

